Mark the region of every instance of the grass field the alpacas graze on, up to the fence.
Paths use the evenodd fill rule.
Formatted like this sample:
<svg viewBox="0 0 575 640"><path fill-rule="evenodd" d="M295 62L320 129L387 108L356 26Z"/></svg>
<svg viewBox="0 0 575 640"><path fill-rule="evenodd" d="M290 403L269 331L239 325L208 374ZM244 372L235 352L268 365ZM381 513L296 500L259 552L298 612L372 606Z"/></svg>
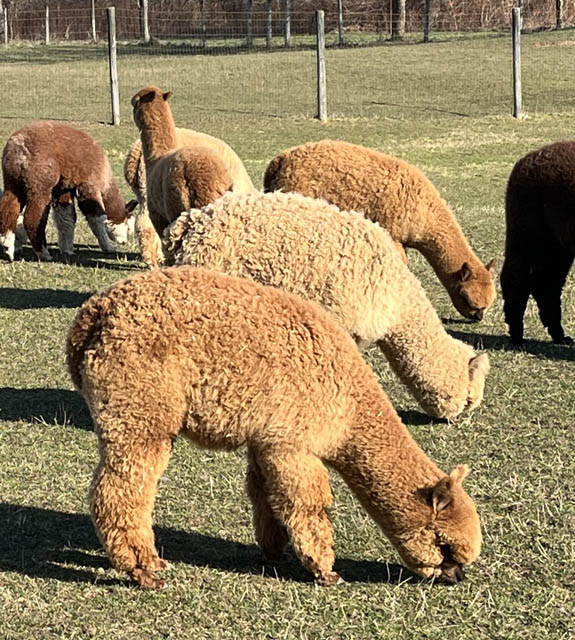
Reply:
<svg viewBox="0 0 575 640"><path fill-rule="evenodd" d="M95 83L85 84L87 107L76 119L107 150L118 177L136 137L130 92L151 82L174 91L178 124L224 138L258 185L273 155L306 140L343 138L401 156L437 184L477 253L496 257L500 268L513 163L575 131L572 37L524 39L523 120L509 115L509 43L502 38L330 52L342 89L331 103L337 117L326 124L305 117L309 101L298 82L309 70L307 52L135 57L123 85L123 124L96 123L105 118L88 108L90 96L102 98ZM35 63L29 53L23 65L10 55L16 53L0 61L2 144L32 118L58 117L45 112L51 101L68 99L73 110L76 78L97 78L92 65L99 63L77 52L58 64ZM393 61L396 81L382 81L384 59ZM248 79L266 69L283 74L282 82L263 82L261 102L252 104ZM66 74L70 86L54 87ZM34 92L15 96L18 83ZM276 102L279 108L270 107ZM428 455L447 471L460 462L472 467L466 485L478 504L484 548L468 579L455 587L410 579L335 475L336 569L348 584L314 586L289 553L281 565L264 566L243 491L244 453L200 451L182 441L155 509L158 546L174 565L169 588L129 586L110 569L87 513L97 443L65 371L63 344L82 301L142 264L135 245L103 257L83 221L79 226L77 264L37 264L29 251L23 261L0 263L0 638L575 637L575 350L550 344L532 305L524 349L508 346L500 299L483 322L468 324L413 252L410 267L446 329L489 353L485 400L455 422L432 421L386 362L377 353L368 357ZM563 300L566 331L575 335L573 278Z"/></svg>

